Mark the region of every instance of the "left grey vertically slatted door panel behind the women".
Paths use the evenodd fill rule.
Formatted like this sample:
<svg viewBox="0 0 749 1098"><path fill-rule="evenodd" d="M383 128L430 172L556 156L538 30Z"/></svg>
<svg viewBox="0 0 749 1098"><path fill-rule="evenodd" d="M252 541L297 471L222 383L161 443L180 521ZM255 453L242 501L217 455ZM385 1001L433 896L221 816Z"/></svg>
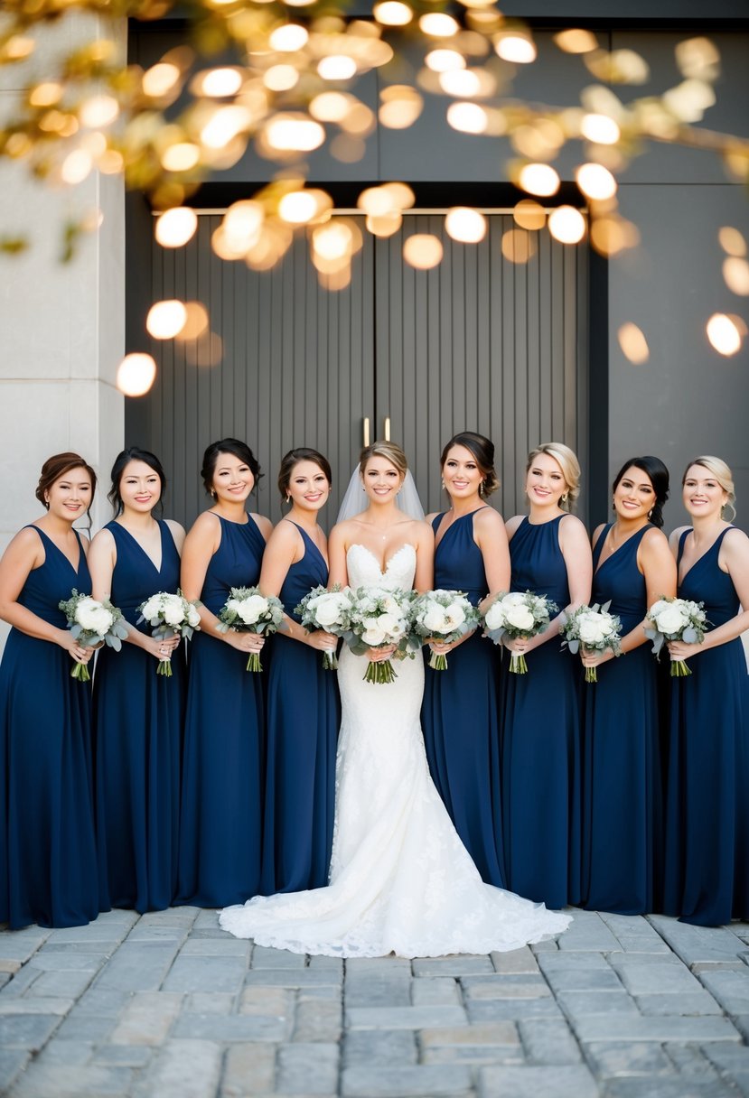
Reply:
<svg viewBox="0 0 749 1098"><path fill-rule="evenodd" d="M206 506L199 470L205 446L216 438L245 439L265 477L258 509L280 517L276 489L280 459L292 446L312 446L334 471L332 523L361 446L362 416L373 415L372 244L366 234L355 258L351 285L322 290L304 239L272 271L224 262L211 250L220 215L199 220L195 237L175 251L154 247L154 300L201 301L223 340L220 365L195 365L195 340L152 340L157 380L142 400L150 416L147 446L169 478L167 514L190 524ZM131 404L131 402L127 402ZM126 412L127 417L127 412ZM138 433L139 432L139 433Z"/></svg>

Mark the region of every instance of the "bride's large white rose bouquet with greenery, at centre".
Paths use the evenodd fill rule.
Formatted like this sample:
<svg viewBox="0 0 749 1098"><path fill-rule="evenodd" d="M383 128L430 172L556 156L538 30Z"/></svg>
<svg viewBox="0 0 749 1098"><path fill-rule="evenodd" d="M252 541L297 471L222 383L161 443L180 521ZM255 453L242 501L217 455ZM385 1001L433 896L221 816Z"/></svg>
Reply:
<svg viewBox="0 0 749 1098"><path fill-rule="evenodd" d="M414 658L421 647L412 631L414 591L388 591L384 587L358 587L350 593L351 607L344 639L356 656L369 648L395 645L396 659ZM371 660L365 674L368 683L391 683L398 677L390 660Z"/></svg>

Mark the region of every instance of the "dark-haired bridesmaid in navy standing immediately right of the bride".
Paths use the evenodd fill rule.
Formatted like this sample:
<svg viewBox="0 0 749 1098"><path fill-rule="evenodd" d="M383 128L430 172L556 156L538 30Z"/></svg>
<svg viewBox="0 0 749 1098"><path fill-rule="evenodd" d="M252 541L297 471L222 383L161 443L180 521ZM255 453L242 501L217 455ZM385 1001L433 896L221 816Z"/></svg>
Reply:
<svg viewBox="0 0 749 1098"><path fill-rule="evenodd" d="M494 445L461 432L440 457L450 507L428 515L435 533L435 587L463 591L477 605L510 587L507 535L484 502L499 488ZM479 630L455 645L447 671L425 666L422 726L432 777L482 878L505 887L500 802L500 650Z"/></svg>

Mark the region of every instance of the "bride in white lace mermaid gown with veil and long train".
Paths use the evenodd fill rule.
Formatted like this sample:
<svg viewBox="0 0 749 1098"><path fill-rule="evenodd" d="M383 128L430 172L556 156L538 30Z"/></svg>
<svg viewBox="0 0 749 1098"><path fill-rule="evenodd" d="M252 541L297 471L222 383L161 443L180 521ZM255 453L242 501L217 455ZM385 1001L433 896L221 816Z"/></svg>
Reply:
<svg viewBox="0 0 749 1098"><path fill-rule="evenodd" d="M362 451L357 491L367 507L331 533L331 584L431 589L432 528L396 503L406 471L392 442ZM568 916L482 882L429 776L422 659L396 663L393 683L364 681L365 660L391 652L340 654L329 885L256 896L225 908L221 926L259 945L328 956L489 953L560 933Z"/></svg>

